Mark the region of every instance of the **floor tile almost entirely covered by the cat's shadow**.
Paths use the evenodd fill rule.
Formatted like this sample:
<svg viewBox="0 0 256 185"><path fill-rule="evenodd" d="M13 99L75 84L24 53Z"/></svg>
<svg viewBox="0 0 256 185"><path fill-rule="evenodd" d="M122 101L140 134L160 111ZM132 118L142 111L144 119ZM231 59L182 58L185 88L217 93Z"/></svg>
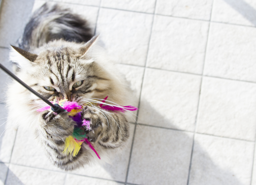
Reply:
<svg viewBox="0 0 256 185"><path fill-rule="evenodd" d="M137 126L127 182L186 185L192 142L192 133Z"/></svg>

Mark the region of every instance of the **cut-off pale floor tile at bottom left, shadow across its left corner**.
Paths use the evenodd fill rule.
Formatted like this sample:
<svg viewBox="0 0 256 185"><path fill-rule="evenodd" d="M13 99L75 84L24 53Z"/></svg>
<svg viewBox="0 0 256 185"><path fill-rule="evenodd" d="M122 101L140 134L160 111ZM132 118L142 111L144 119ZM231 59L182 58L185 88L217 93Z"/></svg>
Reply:
<svg viewBox="0 0 256 185"><path fill-rule="evenodd" d="M65 173L10 164L6 185L63 185Z"/></svg>

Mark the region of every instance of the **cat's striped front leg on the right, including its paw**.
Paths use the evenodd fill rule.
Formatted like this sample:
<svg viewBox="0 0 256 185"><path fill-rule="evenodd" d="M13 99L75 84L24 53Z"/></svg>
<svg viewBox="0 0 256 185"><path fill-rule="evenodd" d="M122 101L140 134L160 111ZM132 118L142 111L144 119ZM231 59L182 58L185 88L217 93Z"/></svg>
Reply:
<svg viewBox="0 0 256 185"><path fill-rule="evenodd" d="M100 108L86 107L82 113L85 122L88 139L98 142L104 148L117 148L129 138L129 123L124 113L107 112Z"/></svg>

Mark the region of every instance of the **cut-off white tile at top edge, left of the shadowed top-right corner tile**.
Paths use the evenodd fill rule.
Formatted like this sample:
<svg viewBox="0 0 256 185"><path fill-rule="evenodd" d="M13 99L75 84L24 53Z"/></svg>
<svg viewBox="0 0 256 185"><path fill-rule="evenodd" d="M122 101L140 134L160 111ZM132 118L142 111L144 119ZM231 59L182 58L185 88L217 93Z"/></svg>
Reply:
<svg viewBox="0 0 256 185"><path fill-rule="evenodd" d="M210 20L212 0L157 0L156 13L175 17Z"/></svg>

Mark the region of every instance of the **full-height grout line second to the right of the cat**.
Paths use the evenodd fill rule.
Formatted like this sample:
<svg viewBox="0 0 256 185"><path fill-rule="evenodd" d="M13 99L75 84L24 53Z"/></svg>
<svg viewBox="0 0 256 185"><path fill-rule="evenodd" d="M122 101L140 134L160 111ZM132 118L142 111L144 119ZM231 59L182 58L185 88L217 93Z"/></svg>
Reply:
<svg viewBox="0 0 256 185"><path fill-rule="evenodd" d="M197 126L196 123L197 123L198 109L199 109L199 103L200 103L200 97L201 97L200 95L201 95L201 90L202 90L202 81L203 81L203 74L204 74L204 68L205 68L205 59L206 59L206 54L207 54L206 51L207 51L208 40L209 40L209 33L210 33L210 27L211 27L212 7L213 7L213 2L212 2L212 6L211 6L210 23L209 23L209 28L208 28L207 41L206 41L206 45L205 45L205 56L204 56L201 84L200 84L200 90L199 90L199 98L198 98L198 104L197 104L197 113L196 113L195 128L194 128L194 135L193 135L193 143L192 143L192 149L191 149L191 155L190 155L190 163L189 163L189 168L188 168L187 185L189 185L191 166L192 166L192 158L193 158L194 146L195 146L195 135L196 135L196 126Z"/></svg>

